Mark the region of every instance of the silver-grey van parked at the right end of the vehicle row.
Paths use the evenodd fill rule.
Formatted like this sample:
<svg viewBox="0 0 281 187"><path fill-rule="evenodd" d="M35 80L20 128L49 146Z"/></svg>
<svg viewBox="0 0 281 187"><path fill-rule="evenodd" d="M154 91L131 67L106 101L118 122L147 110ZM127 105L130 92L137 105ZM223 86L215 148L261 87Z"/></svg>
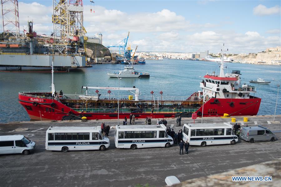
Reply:
<svg viewBox="0 0 281 187"><path fill-rule="evenodd" d="M242 127L240 138L245 141L249 141L250 143L254 143L254 141L275 141L277 136L266 127L259 125L253 127Z"/></svg>

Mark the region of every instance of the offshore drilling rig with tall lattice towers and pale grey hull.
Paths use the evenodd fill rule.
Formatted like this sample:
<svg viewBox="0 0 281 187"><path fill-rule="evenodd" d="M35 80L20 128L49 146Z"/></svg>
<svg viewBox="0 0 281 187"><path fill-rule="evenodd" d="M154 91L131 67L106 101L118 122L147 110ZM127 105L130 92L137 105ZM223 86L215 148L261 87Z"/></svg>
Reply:
<svg viewBox="0 0 281 187"><path fill-rule="evenodd" d="M19 33L17 0L13 5L2 2L3 33L0 39L0 66L51 67L69 71L86 65L86 30L83 27L83 3L74 0L53 0L53 33L38 35L33 22ZM12 7L7 8L7 7ZM9 15L11 14L12 15ZM15 19L11 19L14 17Z"/></svg>

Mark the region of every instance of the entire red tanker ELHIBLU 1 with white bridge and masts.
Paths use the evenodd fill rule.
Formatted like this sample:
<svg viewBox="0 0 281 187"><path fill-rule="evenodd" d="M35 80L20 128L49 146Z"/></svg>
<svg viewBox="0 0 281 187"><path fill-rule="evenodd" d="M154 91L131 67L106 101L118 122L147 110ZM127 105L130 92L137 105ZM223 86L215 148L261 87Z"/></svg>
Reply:
<svg viewBox="0 0 281 187"><path fill-rule="evenodd" d="M223 51L222 51L223 59ZM220 74L204 76L200 83L203 91L191 96L141 96L139 89L118 87L91 87L86 95L57 93L53 82L52 91L19 92L19 103L26 109L31 120L80 120L86 116L88 120L117 119L118 103L119 118L128 118L130 114L136 118L171 118L198 116L253 116L257 115L261 99L251 94L256 92L254 86L241 85L240 71L224 74L224 62L221 61ZM96 95L88 95L88 89L96 89ZM109 96L101 96L99 89L109 90ZM110 95L111 91L129 91L135 96ZM135 91L135 92L133 92Z"/></svg>

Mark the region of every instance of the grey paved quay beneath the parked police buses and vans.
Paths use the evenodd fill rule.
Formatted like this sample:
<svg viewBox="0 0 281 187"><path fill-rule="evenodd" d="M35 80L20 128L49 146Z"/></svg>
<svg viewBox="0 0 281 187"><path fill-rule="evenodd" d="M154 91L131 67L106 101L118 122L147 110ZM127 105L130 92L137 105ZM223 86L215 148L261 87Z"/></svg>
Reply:
<svg viewBox="0 0 281 187"><path fill-rule="evenodd" d="M129 117L129 116L128 116ZM249 122L243 122L248 117ZM30 155L0 155L0 186L165 186L165 178L175 175L180 181L232 171L250 165L281 158L281 115L237 116L238 123L263 125L278 137L274 142L249 143L239 140L235 145L190 146L188 155L179 155L179 146L170 148L119 149L114 144L114 130L110 130L110 147L105 151L49 151L45 149L49 126L96 126L101 122L117 125L117 120L99 121L22 121L0 124L0 135L22 134L37 144ZM122 125L123 119L120 120ZM178 132L175 119L167 119L167 127ZM204 123L230 122L231 118L208 117ZM129 122L129 120L128 120ZM181 124L193 123L182 118ZM195 120L201 123L201 118ZM144 120L136 120L136 125ZM152 119L152 124L156 120ZM28 130L17 132L16 129ZM280 162L279 162L280 163ZM277 171L276 171L277 172ZM224 180L231 180L231 177ZM273 180L274 177L273 177ZM223 181L224 182L224 181ZM249 186L255 183L248 183ZM270 182L264 184L268 185Z"/></svg>

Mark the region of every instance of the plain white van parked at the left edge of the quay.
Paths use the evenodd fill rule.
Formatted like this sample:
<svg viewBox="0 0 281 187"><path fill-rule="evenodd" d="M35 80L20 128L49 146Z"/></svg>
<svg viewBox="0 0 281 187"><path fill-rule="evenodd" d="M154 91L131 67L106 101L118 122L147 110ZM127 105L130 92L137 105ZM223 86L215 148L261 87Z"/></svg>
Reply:
<svg viewBox="0 0 281 187"><path fill-rule="evenodd" d="M0 136L0 154L22 153L28 155L36 148L34 141L24 135Z"/></svg>

